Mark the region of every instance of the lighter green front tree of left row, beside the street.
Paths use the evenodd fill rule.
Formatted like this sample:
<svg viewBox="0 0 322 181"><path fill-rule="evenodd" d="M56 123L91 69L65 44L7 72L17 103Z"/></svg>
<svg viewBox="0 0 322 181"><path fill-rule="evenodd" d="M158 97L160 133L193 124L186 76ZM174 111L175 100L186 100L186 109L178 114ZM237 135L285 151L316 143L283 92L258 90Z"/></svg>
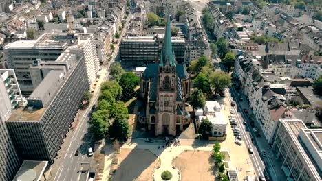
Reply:
<svg viewBox="0 0 322 181"><path fill-rule="evenodd" d="M105 137L109 128L109 112L108 110L98 110L92 114L92 131L96 139Z"/></svg>

